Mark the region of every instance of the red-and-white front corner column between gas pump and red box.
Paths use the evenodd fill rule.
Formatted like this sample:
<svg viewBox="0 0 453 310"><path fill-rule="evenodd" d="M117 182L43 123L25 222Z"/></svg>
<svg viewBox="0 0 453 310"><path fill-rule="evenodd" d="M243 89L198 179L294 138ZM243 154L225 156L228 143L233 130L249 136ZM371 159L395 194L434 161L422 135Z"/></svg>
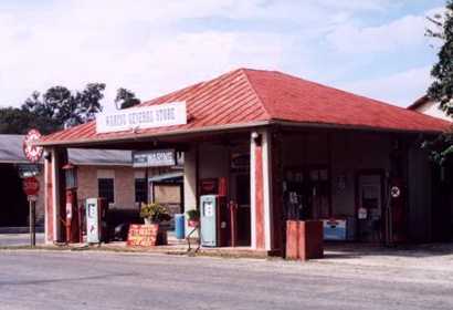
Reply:
<svg viewBox="0 0 453 310"><path fill-rule="evenodd" d="M270 251L273 232L270 132L267 130L252 132L250 147L252 248Z"/></svg>

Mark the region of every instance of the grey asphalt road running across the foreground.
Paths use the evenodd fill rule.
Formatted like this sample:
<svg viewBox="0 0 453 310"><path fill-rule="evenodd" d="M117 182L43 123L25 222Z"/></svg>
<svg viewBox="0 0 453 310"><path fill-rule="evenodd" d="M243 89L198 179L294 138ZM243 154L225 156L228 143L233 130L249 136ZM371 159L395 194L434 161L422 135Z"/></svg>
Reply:
<svg viewBox="0 0 453 310"><path fill-rule="evenodd" d="M452 273L335 261L2 250L0 309L450 310Z"/></svg>

